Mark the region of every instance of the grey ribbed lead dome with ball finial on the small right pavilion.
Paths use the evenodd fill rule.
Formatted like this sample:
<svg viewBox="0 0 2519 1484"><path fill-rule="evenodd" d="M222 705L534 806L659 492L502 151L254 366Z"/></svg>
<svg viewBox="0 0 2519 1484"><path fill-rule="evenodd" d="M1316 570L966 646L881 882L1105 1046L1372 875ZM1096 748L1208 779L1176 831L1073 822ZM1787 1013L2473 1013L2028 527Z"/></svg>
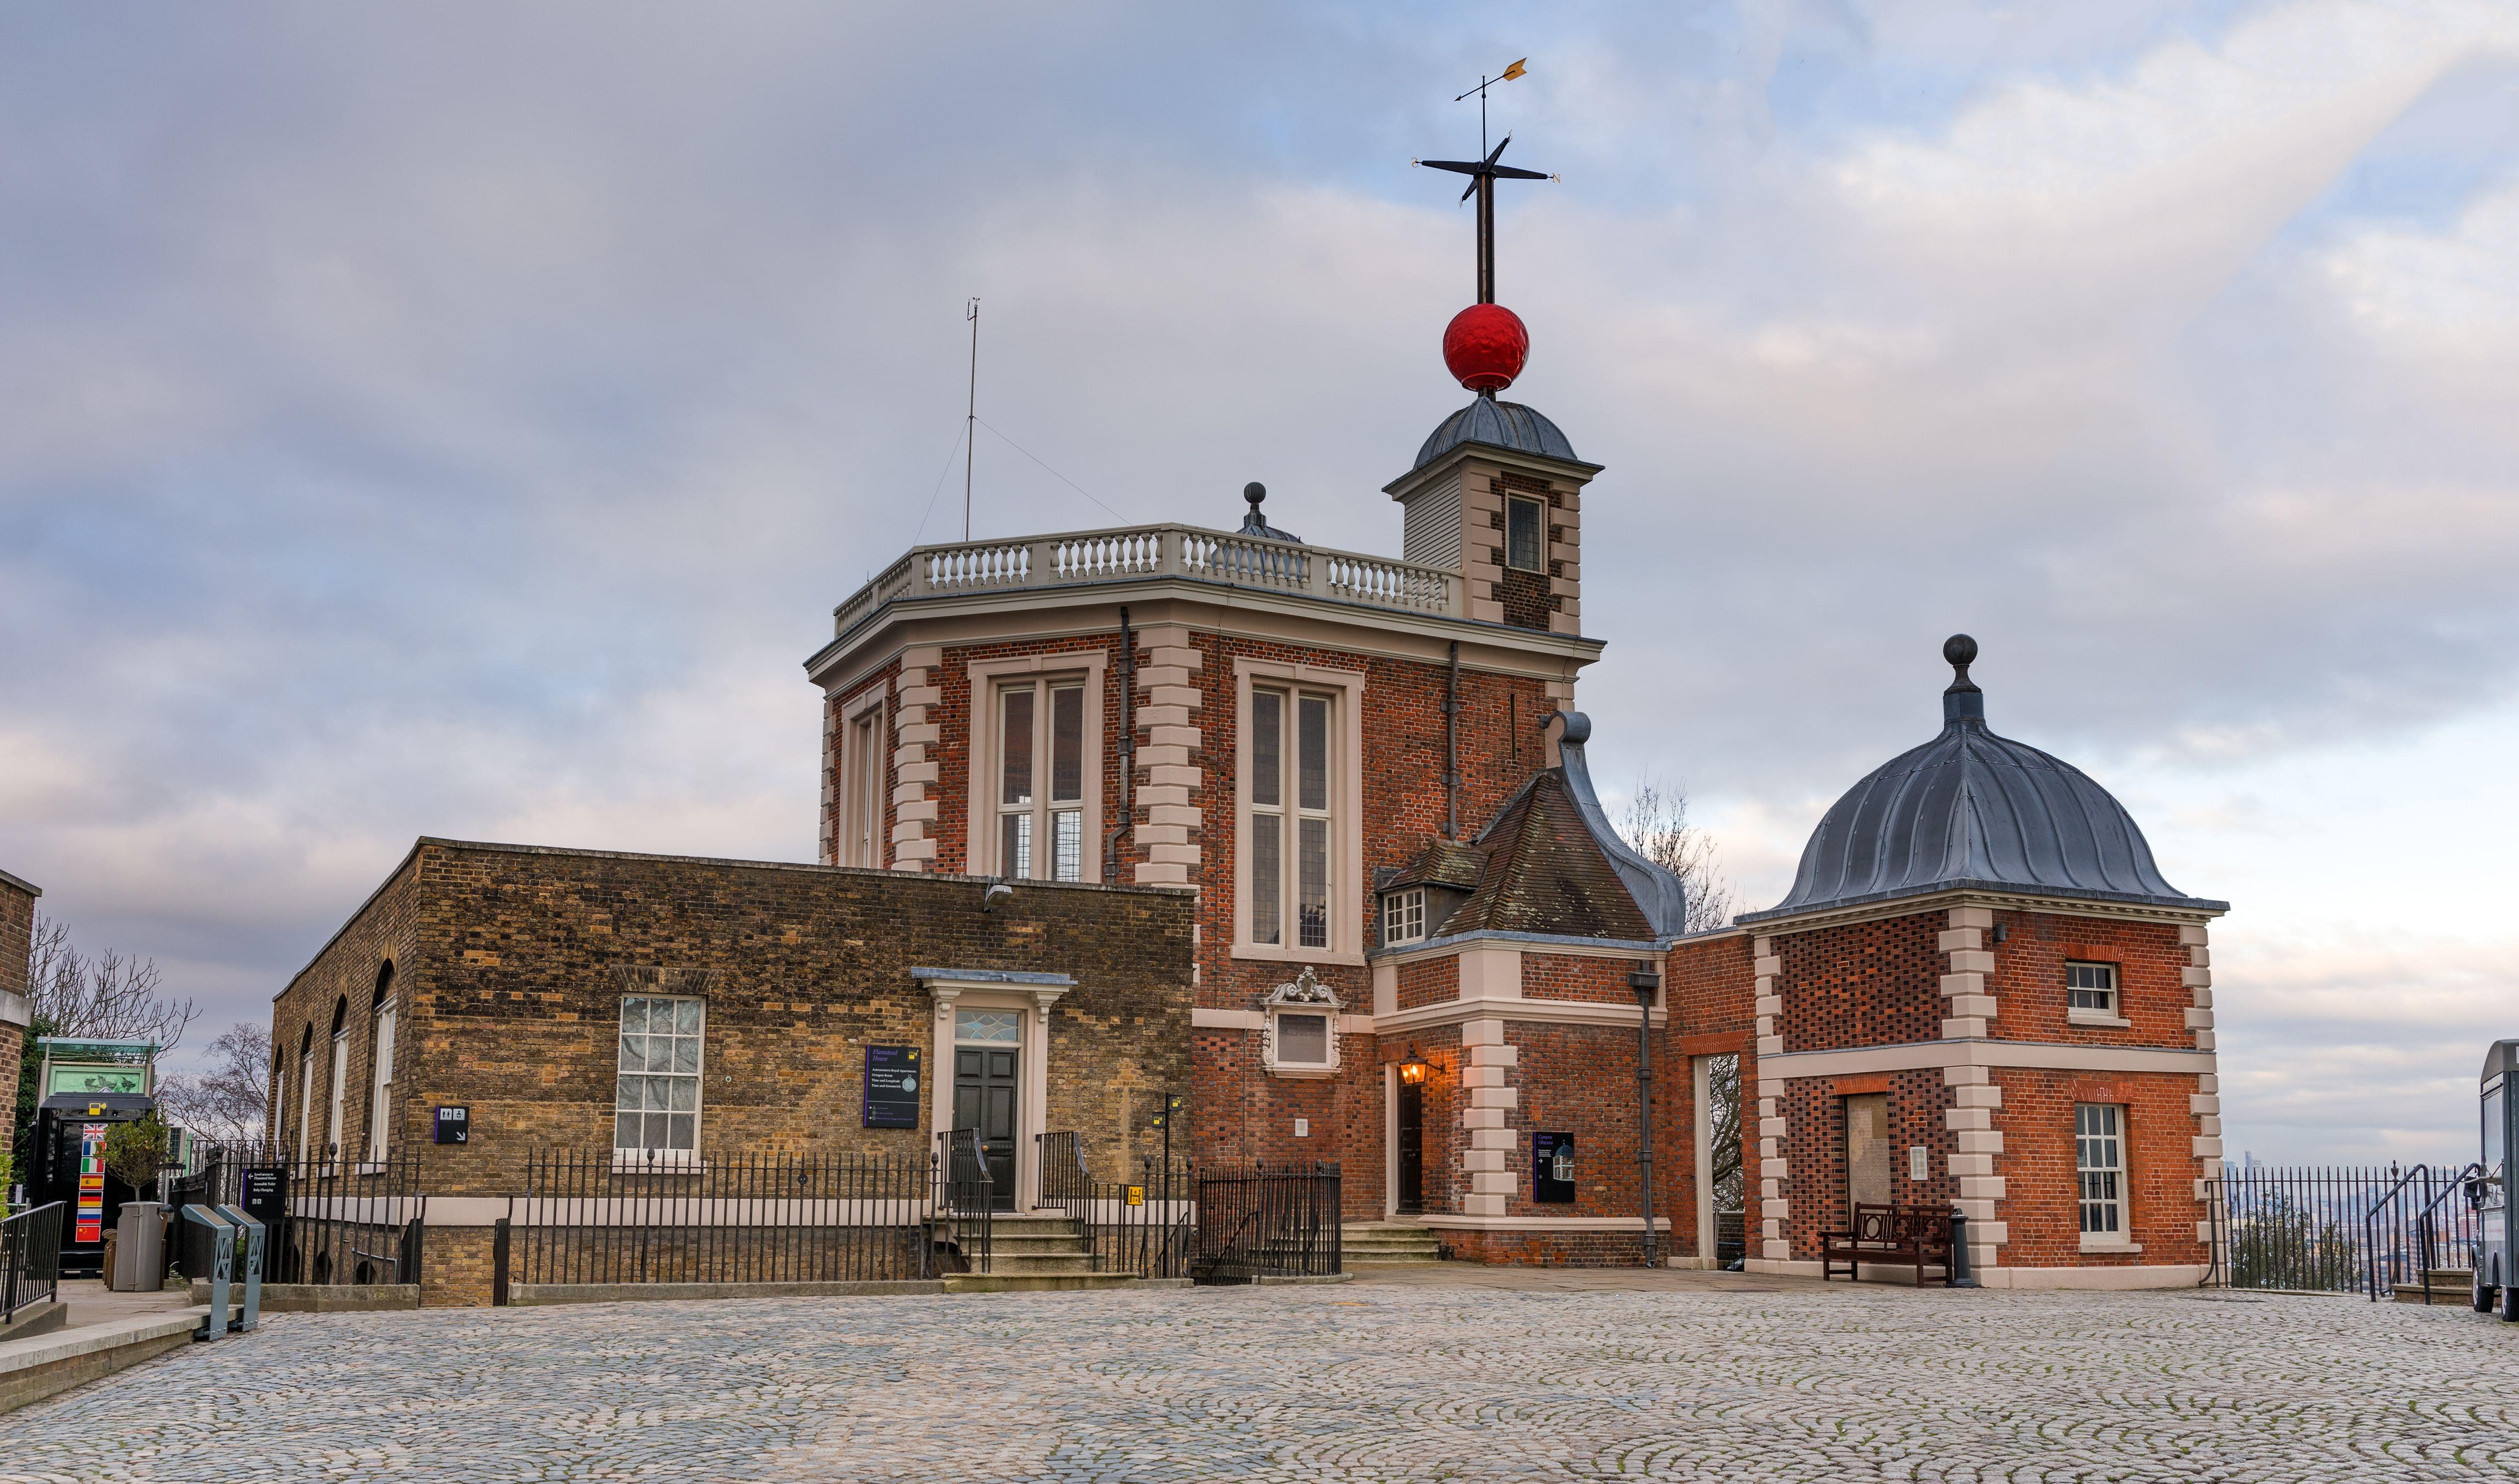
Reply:
<svg viewBox="0 0 2519 1484"><path fill-rule="evenodd" d="M1985 693L1967 680L1975 653L1967 635L1945 645L1957 680L1942 693L1942 736L1854 784L1811 831L1783 902L1738 922L1957 887L2229 910L2171 887L2141 826L2088 773L1985 726Z"/></svg>

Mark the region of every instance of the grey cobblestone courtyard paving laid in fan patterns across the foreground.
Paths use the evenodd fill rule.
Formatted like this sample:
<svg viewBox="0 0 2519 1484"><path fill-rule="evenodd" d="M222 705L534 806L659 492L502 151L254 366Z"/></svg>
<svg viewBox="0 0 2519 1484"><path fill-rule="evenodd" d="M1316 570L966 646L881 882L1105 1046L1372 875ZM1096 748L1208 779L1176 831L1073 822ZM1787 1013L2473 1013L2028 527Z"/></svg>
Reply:
<svg viewBox="0 0 2519 1484"><path fill-rule="evenodd" d="M1380 1285L275 1315L0 1479L2514 1479L2519 1325L2197 1293Z"/></svg>

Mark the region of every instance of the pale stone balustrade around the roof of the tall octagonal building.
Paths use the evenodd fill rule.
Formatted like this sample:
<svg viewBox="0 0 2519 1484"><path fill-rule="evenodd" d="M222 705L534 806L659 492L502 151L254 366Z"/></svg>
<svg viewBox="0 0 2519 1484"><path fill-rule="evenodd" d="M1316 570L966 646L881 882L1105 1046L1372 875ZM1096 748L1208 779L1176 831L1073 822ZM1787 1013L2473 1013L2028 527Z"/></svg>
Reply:
<svg viewBox="0 0 2519 1484"><path fill-rule="evenodd" d="M1461 602L1461 574L1441 567L1270 542L1239 532L1151 524L912 547L834 610L834 635L849 637L849 630L874 617L887 602L907 597L1071 587L1126 577L1270 587L1441 617L1469 612Z"/></svg>

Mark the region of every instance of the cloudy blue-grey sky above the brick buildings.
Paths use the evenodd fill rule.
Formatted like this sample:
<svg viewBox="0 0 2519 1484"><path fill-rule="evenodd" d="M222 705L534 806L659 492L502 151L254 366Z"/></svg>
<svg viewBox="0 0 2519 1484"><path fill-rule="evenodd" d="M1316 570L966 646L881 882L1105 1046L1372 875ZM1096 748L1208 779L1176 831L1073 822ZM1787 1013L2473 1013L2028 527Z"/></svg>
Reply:
<svg viewBox="0 0 2519 1484"><path fill-rule="evenodd" d="M1464 401L1607 464L1582 688L1751 907L1937 726L2214 930L2229 1149L2471 1159L2519 1036L2519 10L20 5L0 867L212 1015L416 834L814 857L831 605L975 529L1398 552ZM1453 184L1446 184L1453 181ZM995 428L995 431L992 431ZM1055 471L1055 474L1053 474Z"/></svg>

